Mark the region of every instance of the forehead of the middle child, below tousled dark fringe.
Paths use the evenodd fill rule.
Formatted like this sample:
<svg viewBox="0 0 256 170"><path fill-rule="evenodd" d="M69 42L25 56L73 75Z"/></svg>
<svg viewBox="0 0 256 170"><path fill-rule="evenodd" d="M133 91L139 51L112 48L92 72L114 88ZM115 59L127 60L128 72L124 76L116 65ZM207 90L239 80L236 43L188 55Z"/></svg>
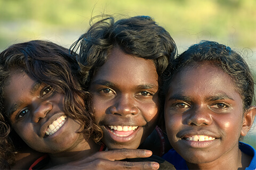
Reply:
<svg viewBox="0 0 256 170"><path fill-rule="evenodd" d="M119 48L113 48L108 60L99 67L93 79L107 79L113 82L140 80L157 83L158 74L153 60L129 55Z"/></svg>

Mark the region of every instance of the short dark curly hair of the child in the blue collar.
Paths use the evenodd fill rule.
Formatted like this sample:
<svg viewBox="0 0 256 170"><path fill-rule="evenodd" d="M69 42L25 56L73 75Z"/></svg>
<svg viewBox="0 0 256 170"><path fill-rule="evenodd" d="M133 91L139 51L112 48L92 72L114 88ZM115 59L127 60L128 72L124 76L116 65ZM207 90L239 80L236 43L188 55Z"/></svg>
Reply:
<svg viewBox="0 0 256 170"><path fill-rule="evenodd" d="M254 82L249 66L237 52L215 41L204 40L199 44L190 46L188 50L174 60L174 64L167 67L162 75L164 81L161 90L162 96L167 94L172 78L176 73L199 62L210 62L231 77L243 100L244 111L252 105Z"/></svg>

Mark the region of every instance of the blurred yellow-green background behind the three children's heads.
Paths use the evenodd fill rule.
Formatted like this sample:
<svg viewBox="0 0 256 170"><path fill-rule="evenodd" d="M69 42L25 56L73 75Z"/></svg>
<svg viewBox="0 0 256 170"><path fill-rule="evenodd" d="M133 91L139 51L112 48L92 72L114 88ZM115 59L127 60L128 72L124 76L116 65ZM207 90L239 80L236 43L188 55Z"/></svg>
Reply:
<svg viewBox="0 0 256 170"><path fill-rule="evenodd" d="M170 32L179 53L214 40L242 53L256 73L255 0L0 0L0 51L32 39L69 47L92 16L149 15ZM256 127L244 141L256 148Z"/></svg>

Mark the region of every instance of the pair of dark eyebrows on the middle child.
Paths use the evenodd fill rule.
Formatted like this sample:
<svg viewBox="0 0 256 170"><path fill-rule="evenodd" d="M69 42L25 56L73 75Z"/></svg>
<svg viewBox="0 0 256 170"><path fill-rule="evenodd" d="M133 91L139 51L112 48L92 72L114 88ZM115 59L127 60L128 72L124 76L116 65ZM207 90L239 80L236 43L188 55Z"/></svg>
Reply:
<svg viewBox="0 0 256 170"><path fill-rule="evenodd" d="M97 80L97 81L93 81L91 83L91 85L102 85L102 86L107 86L110 88L114 88L117 85L111 81L105 81L105 80ZM158 84L153 84L153 83L149 83L149 84L140 84L138 86L136 86L137 89L153 89L156 88L158 89Z"/></svg>

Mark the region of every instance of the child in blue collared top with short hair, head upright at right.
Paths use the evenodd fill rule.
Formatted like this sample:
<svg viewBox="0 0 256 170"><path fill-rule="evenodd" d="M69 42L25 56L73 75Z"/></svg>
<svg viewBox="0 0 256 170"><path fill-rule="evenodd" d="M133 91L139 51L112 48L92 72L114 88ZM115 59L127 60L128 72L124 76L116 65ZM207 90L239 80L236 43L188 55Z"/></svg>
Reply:
<svg viewBox="0 0 256 170"><path fill-rule="evenodd" d="M164 159L176 169L255 169L256 153L241 139L250 130L254 82L230 47L202 41L163 74L166 131L173 147Z"/></svg>

